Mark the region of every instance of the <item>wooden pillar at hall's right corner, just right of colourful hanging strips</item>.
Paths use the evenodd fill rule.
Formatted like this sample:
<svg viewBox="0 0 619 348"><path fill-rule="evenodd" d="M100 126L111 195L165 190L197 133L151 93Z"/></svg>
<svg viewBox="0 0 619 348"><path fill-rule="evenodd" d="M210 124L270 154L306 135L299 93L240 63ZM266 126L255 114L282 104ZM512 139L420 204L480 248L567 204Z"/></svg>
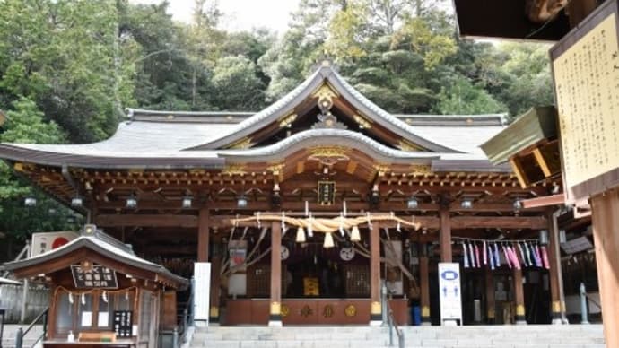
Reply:
<svg viewBox="0 0 619 348"><path fill-rule="evenodd" d="M550 303L553 324L562 324L562 306L561 303L561 251L559 250L559 225L554 213L546 214L548 219L548 262L550 269L548 276L550 281Z"/></svg>

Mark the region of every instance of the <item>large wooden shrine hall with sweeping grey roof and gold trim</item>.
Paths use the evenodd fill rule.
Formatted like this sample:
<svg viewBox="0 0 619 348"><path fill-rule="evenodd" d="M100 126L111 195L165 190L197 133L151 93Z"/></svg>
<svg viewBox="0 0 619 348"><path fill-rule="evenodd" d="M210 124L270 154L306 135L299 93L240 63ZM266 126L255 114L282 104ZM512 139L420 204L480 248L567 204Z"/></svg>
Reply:
<svg viewBox="0 0 619 348"><path fill-rule="evenodd" d="M550 322L558 247L538 237L555 224L520 201L554 185L522 188L488 161L479 146L504 128L389 114L324 62L257 113L128 109L108 140L0 157L140 257L185 277L210 262L196 291L212 323L367 325L384 284L400 324L416 322L409 306L439 324L437 264L451 261L464 324Z"/></svg>

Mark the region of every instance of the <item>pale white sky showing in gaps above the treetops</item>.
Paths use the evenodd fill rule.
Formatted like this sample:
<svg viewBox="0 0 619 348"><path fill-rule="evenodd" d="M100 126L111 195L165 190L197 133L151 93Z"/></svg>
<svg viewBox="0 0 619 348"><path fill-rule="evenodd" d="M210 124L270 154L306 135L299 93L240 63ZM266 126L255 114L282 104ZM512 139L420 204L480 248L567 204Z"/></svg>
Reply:
<svg viewBox="0 0 619 348"><path fill-rule="evenodd" d="M130 0L137 4L159 4L161 0ZM194 0L169 0L168 12L180 22L191 20ZM299 0L220 0L219 9L223 13L221 27L225 30L240 31L253 28L268 28L283 33L288 28L290 13Z"/></svg>

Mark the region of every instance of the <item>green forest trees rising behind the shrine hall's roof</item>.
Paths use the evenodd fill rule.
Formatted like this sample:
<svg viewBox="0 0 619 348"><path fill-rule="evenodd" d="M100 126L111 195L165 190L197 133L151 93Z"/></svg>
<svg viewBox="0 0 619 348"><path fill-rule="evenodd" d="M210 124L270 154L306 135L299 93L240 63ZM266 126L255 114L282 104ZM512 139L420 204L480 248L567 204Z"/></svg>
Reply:
<svg viewBox="0 0 619 348"><path fill-rule="evenodd" d="M221 29L214 0L174 22L168 4L0 2L3 142L88 143L127 107L255 111L325 57L396 114L507 113L552 103L547 47L458 38L445 0L301 0L288 30ZM24 196L37 195L24 210ZM68 220L67 220L68 219ZM0 168L0 231L23 239L74 216Z"/></svg>

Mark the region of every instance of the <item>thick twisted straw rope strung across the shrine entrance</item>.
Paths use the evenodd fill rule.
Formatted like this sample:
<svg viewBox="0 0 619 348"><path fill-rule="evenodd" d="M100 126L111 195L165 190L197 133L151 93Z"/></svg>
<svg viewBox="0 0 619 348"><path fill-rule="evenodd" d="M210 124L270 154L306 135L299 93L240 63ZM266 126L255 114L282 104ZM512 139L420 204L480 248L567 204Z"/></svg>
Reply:
<svg viewBox="0 0 619 348"><path fill-rule="evenodd" d="M231 219L232 226L238 226L241 223L247 222L282 222L282 225L285 223L288 226L294 227L302 227L306 230L311 230L315 232L323 232L323 233L332 233L335 231L341 231L341 229L351 229L354 226L359 226L361 224L371 224L371 222L396 222L397 226L410 227L414 228L414 230L419 230L421 227L421 223L414 222L414 217L411 220L405 220L400 217L397 217L395 214L385 213L385 214L371 214L368 213L365 216L358 217L344 217L344 214L337 216L333 219L327 218L293 218L290 216L286 216L285 213L279 214L260 214L257 216L249 216L245 218L235 218Z"/></svg>

